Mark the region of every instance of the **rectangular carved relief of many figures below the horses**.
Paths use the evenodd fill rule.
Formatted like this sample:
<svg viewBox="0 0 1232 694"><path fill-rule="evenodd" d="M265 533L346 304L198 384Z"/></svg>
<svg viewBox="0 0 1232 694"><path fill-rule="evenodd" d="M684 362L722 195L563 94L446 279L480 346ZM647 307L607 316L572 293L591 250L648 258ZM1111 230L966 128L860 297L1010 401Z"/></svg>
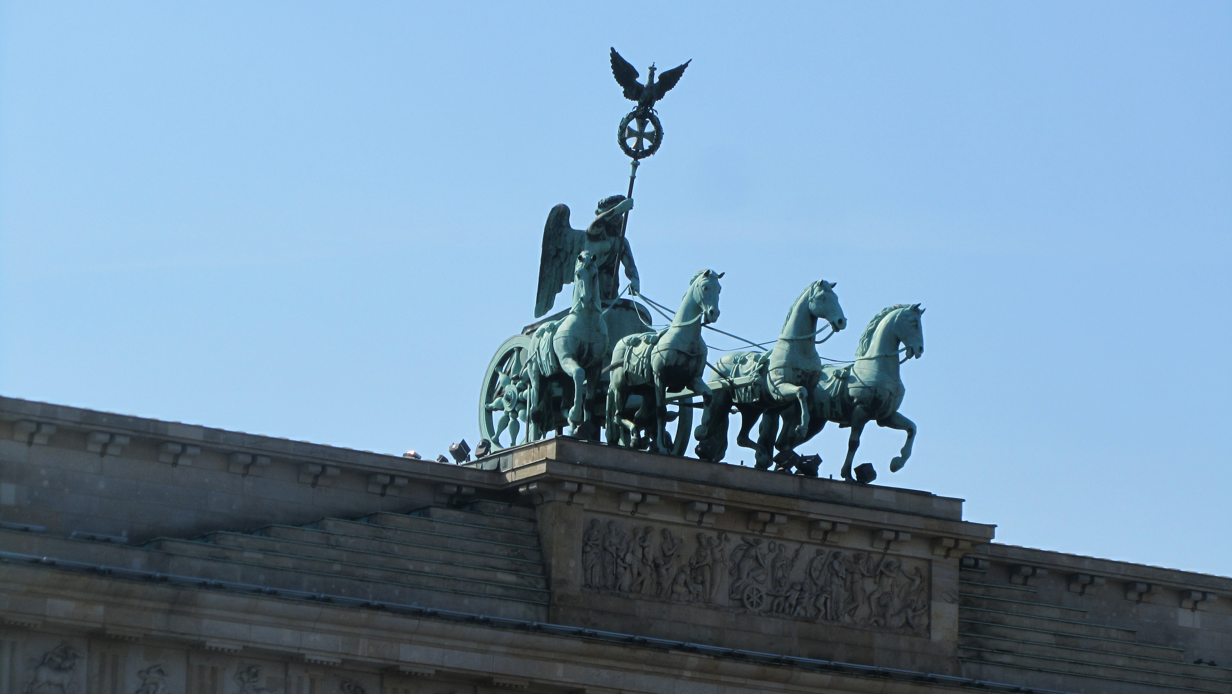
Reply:
<svg viewBox="0 0 1232 694"><path fill-rule="evenodd" d="M583 588L926 636L928 562L726 531L588 518Z"/></svg>

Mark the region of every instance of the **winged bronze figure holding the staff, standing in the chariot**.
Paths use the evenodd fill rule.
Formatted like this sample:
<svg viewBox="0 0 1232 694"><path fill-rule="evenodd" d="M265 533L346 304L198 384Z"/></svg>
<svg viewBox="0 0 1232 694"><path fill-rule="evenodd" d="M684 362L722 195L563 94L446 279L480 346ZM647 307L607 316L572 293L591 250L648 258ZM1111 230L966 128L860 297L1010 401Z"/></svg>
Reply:
<svg viewBox="0 0 1232 694"><path fill-rule="evenodd" d="M632 198L623 195L605 197L599 201L595 219L585 231L569 226L568 205L557 205L547 213L547 223L543 226L543 253L540 256L538 291L535 295L536 318L552 308L556 295L561 293L564 285L573 282L573 265L583 250L595 254L601 302L610 302L618 293L617 264L625 265L630 292L637 295L639 280L637 265L633 264L633 251L628 247L628 240L620 237L621 214L632 208Z"/></svg>

